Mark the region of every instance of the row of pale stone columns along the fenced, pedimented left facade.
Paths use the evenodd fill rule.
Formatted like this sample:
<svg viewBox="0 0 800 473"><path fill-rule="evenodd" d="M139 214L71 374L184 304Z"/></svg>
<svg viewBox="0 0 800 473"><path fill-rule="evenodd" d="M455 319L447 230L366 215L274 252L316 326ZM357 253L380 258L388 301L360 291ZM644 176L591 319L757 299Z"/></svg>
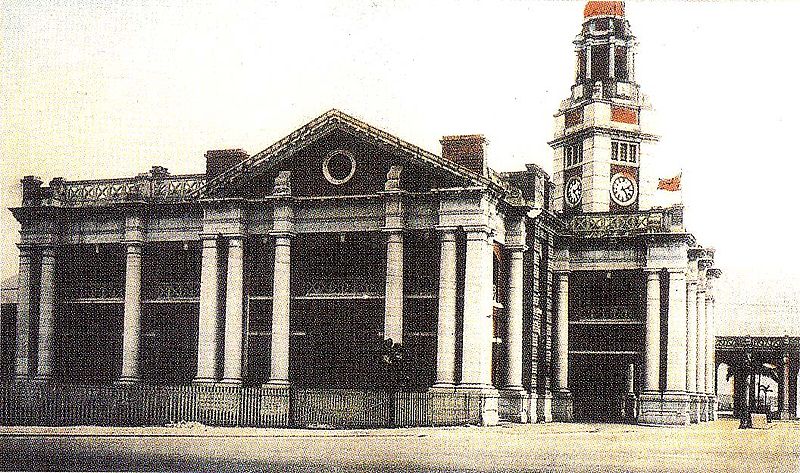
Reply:
<svg viewBox="0 0 800 473"><path fill-rule="evenodd" d="M494 239L488 227L464 228L465 287L461 372L456 373L456 299L458 245L456 227L439 228L440 278L437 327L436 387L492 387ZM289 384L289 317L291 304L291 246L293 233L275 232L272 294L272 337L269 383ZM403 233L386 232L386 313L384 335L402 342ZM119 382L141 377L142 246L141 238L126 248L123 299L122 365ZM223 251L223 246L227 251ZM522 390L523 244L508 246L508 370L502 385ZM31 252L20 246L20 284L15 373L28 379L30 339ZM242 382L244 337L244 235L201 235L202 266L195 383ZM42 249L39 296L38 369L35 378L52 377L54 330L54 248ZM225 258L222 255L227 255ZM36 329L36 328L33 328ZM219 372L221 369L221 373ZM456 381L460 380L459 383Z"/></svg>

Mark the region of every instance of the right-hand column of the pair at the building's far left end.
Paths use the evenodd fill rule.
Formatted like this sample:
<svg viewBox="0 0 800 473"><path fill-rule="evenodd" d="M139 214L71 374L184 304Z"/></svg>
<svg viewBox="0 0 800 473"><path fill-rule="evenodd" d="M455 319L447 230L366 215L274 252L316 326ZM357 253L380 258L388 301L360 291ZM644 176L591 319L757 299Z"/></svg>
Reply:
<svg viewBox="0 0 800 473"><path fill-rule="evenodd" d="M55 260L54 248L43 247L39 293L39 363L36 369L36 379L40 381L47 381L53 377Z"/></svg>

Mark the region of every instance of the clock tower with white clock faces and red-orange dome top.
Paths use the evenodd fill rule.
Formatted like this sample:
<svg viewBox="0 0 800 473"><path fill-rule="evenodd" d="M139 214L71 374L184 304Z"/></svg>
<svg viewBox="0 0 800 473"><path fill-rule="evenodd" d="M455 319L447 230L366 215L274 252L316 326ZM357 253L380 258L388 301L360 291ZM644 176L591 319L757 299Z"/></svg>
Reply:
<svg viewBox="0 0 800 473"><path fill-rule="evenodd" d="M555 114L554 207L627 213L653 206L652 109L634 75L636 37L621 1L590 1L575 37L575 82Z"/></svg>

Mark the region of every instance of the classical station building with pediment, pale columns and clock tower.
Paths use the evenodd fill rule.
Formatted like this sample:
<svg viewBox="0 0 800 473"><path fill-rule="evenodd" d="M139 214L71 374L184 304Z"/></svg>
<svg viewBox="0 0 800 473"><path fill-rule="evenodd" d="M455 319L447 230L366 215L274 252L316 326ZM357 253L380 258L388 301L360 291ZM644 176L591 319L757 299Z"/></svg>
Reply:
<svg viewBox="0 0 800 473"><path fill-rule="evenodd" d="M25 177L0 416L75 386L118 416L145 387L366 415L391 339L428 423L452 412L430 396L477 400L484 424L713 419L720 272L683 207L656 206L668 157L624 4L588 2L574 46L552 179L493 170L482 135L437 155L338 110L253 155L208 151L201 174Z"/></svg>

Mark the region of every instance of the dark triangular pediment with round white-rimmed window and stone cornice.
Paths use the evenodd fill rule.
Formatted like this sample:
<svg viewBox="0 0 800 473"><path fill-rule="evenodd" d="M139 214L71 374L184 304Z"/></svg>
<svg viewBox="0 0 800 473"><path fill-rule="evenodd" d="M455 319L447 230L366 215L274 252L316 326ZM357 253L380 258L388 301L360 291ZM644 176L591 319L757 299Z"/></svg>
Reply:
<svg viewBox="0 0 800 473"><path fill-rule="evenodd" d="M336 160L343 162L338 171L348 174L349 158L358 172L346 183L334 184L345 177L330 175L337 171ZM330 173L326 171L326 159L332 161ZM401 187L407 190L496 185L463 166L333 109L210 179L197 196L268 194L277 173L287 170L292 171L293 194L372 194L383 190L386 174L394 165L403 166Z"/></svg>

